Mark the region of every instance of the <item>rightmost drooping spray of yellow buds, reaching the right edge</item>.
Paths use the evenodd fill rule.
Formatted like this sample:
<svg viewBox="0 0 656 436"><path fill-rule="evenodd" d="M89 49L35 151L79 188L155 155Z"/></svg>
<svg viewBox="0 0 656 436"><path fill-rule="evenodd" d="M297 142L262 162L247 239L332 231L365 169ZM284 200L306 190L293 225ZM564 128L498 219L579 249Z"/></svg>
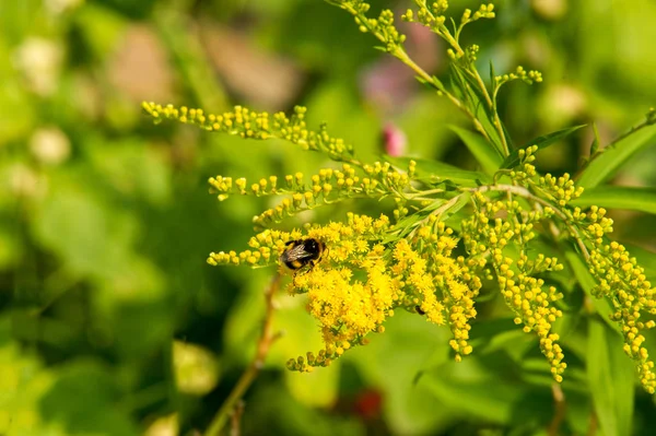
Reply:
<svg viewBox="0 0 656 436"><path fill-rule="evenodd" d="M626 248L617 241L608 243L605 235L612 232L612 220L606 210L591 207L587 213L576 208L573 219L593 247L588 264L597 280L593 293L598 298L609 297L624 337L624 352L635 361L641 384L649 392L656 392L654 361L644 346L644 331L656 326L654 320L643 321L644 315L656 315L656 291L647 281L645 271L631 257Z"/></svg>

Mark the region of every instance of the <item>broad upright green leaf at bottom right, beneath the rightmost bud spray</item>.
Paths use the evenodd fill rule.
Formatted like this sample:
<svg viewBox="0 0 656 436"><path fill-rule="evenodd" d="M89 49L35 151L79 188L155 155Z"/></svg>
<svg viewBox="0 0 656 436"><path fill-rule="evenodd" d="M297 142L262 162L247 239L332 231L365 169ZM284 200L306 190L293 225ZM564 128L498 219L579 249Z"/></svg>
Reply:
<svg viewBox="0 0 656 436"><path fill-rule="evenodd" d="M634 369L617 332L588 322L587 374L595 413L606 436L631 434Z"/></svg>

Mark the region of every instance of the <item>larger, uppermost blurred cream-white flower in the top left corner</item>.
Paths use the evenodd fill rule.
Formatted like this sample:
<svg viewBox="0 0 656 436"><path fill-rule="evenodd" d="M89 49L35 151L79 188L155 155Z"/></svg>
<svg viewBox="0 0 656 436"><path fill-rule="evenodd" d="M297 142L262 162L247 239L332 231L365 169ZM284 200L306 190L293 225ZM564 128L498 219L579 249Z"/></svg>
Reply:
<svg viewBox="0 0 656 436"><path fill-rule="evenodd" d="M45 38L27 38L13 54L12 60L35 93L47 96L57 90L63 61L60 44Z"/></svg>

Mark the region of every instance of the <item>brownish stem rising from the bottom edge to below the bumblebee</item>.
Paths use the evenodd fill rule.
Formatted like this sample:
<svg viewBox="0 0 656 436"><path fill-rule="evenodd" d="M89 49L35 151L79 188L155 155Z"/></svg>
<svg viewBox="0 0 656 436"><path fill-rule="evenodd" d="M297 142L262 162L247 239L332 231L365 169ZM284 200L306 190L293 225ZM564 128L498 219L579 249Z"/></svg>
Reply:
<svg viewBox="0 0 656 436"><path fill-rule="evenodd" d="M246 390L253 385L253 381L259 374L259 370L265 364L265 358L269 353L269 347L271 344L280 337L278 333L272 333L272 319L273 319L273 295L280 287L280 274L276 274L271 280L269 286L265 292L265 301L266 301L266 313L265 313L265 322L262 326L262 333L260 335L259 342L257 344L257 352L255 354L255 358L246 369L239 380L233 388L232 392L227 399L221 405L221 409L216 412L212 422L210 423L208 429L204 433L204 436L219 436L221 431L230 420L235 406L241 401Z"/></svg>

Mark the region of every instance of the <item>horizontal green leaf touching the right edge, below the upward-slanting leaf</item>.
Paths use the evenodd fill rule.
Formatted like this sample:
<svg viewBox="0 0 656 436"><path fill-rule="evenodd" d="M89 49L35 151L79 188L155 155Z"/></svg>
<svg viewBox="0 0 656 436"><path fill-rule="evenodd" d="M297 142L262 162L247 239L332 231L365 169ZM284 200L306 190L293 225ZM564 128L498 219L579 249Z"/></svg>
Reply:
<svg viewBox="0 0 656 436"><path fill-rule="evenodd" d="M593 204L610 209L626 209L656 214L656 188L602 186L586 189L570 204L587 208Z"/></svg>

